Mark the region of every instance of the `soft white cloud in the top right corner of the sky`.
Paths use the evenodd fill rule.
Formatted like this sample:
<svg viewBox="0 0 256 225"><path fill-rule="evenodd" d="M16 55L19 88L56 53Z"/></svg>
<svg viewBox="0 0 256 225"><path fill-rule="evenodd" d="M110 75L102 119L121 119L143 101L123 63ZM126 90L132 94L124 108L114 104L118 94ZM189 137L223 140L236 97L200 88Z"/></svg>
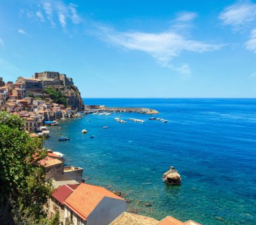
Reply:
<svg viewBox="0 0 256 225"><path fill-rule="evenodd" d="M230 25L237 30L256 19L256 4L251 1L237 1L226 7L219 18L224 25Z"/></svg>

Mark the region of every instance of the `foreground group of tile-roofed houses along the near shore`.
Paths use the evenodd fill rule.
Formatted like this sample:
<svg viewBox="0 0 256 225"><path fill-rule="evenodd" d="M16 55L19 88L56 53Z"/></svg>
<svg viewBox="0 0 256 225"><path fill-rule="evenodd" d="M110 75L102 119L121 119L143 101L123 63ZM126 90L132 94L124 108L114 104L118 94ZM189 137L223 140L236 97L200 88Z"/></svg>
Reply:
<svg viewBox="0 0 256 225"><path fill-rule="evenodd" d="M199 225L171 216L158 221L129 213L123 197L104 187L84 183L83 169L64 166L61 156L59 152L49 151L44 160L38 161L46 168L46 179L52 179L55 187L44 210L49 218L58 213L61 225Z"/></svg>

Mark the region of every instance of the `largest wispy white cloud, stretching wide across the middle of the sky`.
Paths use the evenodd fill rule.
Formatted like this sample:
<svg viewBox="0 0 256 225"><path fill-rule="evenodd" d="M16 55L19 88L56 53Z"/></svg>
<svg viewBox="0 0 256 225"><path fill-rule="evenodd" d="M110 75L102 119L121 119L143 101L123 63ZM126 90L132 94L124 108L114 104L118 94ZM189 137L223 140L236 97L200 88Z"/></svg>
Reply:
<svg viewBox="0 0 256 225"><path fill-rule="evenodd" d="M160 33L146 32L117 32L113 29L100 27L97 34L105 42L125 49L148 53L162 67L174 69L182 74L191 74L189 65L173 66L170 61L179 57L183 52L204 53L215 51L222 47L220 44L207 44L205 42L185 38L175 31L169 30Z"/></svg>

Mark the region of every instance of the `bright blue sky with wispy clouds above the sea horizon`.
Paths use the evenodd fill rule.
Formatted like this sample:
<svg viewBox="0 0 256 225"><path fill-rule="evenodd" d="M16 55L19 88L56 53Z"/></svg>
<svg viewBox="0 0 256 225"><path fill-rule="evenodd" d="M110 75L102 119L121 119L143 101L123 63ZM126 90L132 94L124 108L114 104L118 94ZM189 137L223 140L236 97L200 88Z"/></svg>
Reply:
<svg viewBox="0 0 256 225"><path fill-rule="evenodd" d="M0 0L0 77L84 98L256 98L256 1Z"/></svg>

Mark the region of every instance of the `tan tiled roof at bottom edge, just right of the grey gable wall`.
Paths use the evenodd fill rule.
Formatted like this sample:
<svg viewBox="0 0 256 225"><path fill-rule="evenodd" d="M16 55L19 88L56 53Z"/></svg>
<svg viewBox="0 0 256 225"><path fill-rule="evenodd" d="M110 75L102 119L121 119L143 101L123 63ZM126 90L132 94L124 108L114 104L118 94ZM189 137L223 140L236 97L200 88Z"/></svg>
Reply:
<svg viewBox="0 0 256 225"><path fill-rule="evenodd" d="M129 212L123 212L118 218L116 218L113 222L110 222L109 225L156 225L158 224L158 220L148 217L141 216L138 214L131 214Z"/></svg>

